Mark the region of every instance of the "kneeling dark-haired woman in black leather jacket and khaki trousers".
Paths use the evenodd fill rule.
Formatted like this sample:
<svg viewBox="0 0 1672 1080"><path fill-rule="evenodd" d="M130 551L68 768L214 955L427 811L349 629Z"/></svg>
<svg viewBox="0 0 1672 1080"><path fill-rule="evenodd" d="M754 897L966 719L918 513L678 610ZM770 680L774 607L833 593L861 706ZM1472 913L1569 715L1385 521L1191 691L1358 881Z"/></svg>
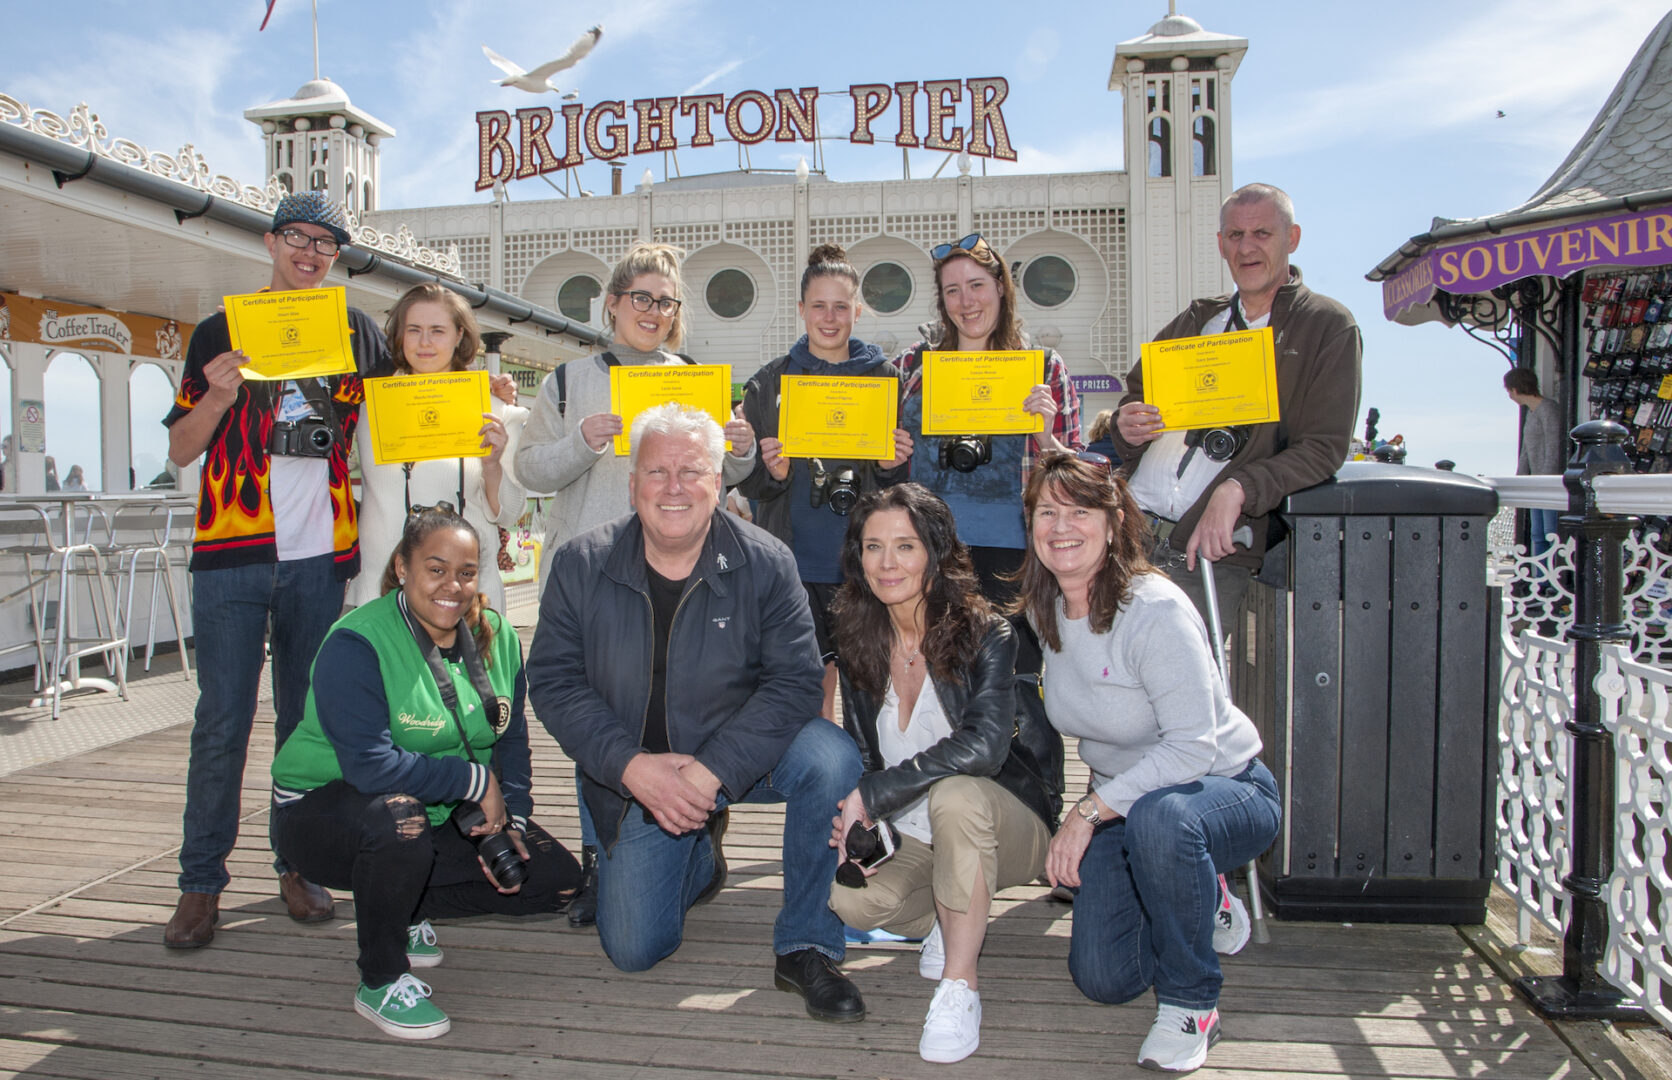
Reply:
<svg viewBox="0 0 1672 1080"><path fill-rule="evenodd" d="M993 894L1033 881L1062 809L1062 739L1015 677L1017 639L976 585L946 503L916 483L848 520L836 597L843 722L864 776L841 802L831 909L859 930L923 938L935 981L918 1053L960 1062L981 1040L976 960ZM866 829L898 829L873 868ZM890 834L893 836L893 834Z"/></svg>

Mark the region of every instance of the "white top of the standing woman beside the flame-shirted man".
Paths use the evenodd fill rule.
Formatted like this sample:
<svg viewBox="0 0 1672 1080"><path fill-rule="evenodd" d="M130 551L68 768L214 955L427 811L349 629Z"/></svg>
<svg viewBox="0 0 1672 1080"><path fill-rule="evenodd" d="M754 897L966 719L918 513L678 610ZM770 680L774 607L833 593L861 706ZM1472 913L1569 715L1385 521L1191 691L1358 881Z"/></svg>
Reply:
<svg viewBox="0 0 1672 1080"><path fill-rule="evenodd" d="M485 458L448 458L445 461L418 461L413 465L411 505L431 507L453 503L458 507L458 463L465 463L465 520L477 530L477 587L488 597L493 610L505 614L505 585L500 582L500 532L512 528L527 508L528 493L517 480L512 460L517 456L517 440L522 438L528 410L505 405L493 398L493 415L505 421L505 453L500 455L500 513L488 517L488 492L482 483ZM354 448L359 453L359 577L348 583L348 605L370 604L383 593L383 568L401 542L406 528L406 475L400 465L373 465L371 425L359 418L354 431Z"/></svg>

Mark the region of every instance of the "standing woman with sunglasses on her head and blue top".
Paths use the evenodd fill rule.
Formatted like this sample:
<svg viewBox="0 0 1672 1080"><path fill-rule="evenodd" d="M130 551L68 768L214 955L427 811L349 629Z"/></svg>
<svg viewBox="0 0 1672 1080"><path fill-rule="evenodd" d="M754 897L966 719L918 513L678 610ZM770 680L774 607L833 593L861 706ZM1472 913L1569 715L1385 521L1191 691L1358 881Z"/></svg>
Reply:
<svg viewBox="0 0 1672 1080"><path fill-rule="evenodd" d="M995 607L1015 597L1010 577L1022 567L1027 528L1022 517L1022 487L1033 461L1047 450L1078 450L1080 396L1068 381L1068 366L1055 349L1043 349L1045 364L1028 391L1023 410L1043 418L1038 435L991 435L963 441L955 436L923 436L923 353L1010 351L1033 348L1022 333L1017 314L1017 283L1010 267L980 236L940 244L935 259L935 311L940 339L920 341L900 358L906 381L901 426L916 441L911 478L946 500L958 518L958 537L970 545L970 558L981 580L981 592ZM971 433L975 435L975 433ZM985 458L985 460L983 460ZM1038 642L1027 624L1017 620L1017 670L1040 670Z"/></svg>

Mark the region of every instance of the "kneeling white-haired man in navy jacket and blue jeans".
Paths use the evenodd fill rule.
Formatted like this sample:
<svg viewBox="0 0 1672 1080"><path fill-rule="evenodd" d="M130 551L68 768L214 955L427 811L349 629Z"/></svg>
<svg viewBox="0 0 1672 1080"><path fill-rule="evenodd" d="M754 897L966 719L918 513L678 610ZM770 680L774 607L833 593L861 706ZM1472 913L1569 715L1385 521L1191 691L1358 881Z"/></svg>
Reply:
<svg viewBox="0 0 1672 1080"><path fill-rule="evenodd" d="M794 555L721 512L714 420L662 405L634 421L630 445L634 512L558 548L527 665L597 823L604 951L644 971L677 950L686 911L726 884L719 811L782 801L776 983L818 1020L863 1020L826 903L829 823L859 751L819 717L824 670Z"/></svg>

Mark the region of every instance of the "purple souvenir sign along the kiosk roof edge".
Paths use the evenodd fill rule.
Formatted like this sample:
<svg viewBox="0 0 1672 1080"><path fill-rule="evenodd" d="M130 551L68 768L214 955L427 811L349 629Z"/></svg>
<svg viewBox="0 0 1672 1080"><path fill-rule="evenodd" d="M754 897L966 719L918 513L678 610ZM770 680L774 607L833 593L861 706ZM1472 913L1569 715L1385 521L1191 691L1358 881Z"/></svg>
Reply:
<svg viewBox="0 0 1672 1080"><path fill-rule="evenodd" d="M1391 319L1431 299L1435 289L1466 296L1538 274L1664 262L1672 262L1672 207L1435 247L1381 283L1381 306Z"/></svg>

